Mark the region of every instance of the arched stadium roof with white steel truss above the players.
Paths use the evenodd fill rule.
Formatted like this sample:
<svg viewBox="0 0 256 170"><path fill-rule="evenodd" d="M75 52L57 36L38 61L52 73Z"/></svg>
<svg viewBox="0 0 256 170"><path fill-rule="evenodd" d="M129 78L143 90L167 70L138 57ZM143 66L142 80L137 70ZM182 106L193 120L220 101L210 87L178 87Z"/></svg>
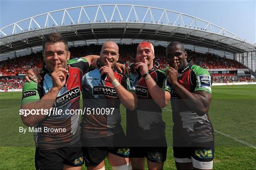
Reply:
<svg viewBox="0 0 256 170"><path fill-rule="evenodd" d="M46 12L0 28L0 53L42 45L45 35L59 32L69 42L99 39L180 41L231 53L255 52L230 31L200 18L168 9L103 4Z"/></svg>

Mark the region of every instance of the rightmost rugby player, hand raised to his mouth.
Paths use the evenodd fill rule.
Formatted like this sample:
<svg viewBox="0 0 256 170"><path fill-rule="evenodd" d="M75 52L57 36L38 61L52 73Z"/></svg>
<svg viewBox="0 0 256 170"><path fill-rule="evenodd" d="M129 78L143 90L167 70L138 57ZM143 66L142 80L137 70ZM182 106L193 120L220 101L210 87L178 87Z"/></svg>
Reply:
<svg viewBox="0 0 256 170"><path fill-rule="evenodd" d="M173 113L173 149L178 170L211 170L214 131L208 116L211 101L210 73L192 62L180 42L166 48Z"/></svg>

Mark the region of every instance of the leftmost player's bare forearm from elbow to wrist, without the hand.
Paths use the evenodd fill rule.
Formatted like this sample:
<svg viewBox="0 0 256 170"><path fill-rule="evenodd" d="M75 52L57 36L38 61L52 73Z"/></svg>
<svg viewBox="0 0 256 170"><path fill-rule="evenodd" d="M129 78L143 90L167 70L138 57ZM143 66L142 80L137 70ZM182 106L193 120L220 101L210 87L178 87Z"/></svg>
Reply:
<svg viewBox="0 0 256 170"><path fill-rule="evenodd" d="M38 115L21 115L22 122L27 126L34 126L37 123L41 122L46 118L48 115L44 115L40 109L50 109L54 105L54 101L58 95L59 90L56 88L51 89L48 93L46 93L45 96L43 96L39 101L37 102L31 102L27 103L21 106L21 109L36 109L38 110Z"/></svg>

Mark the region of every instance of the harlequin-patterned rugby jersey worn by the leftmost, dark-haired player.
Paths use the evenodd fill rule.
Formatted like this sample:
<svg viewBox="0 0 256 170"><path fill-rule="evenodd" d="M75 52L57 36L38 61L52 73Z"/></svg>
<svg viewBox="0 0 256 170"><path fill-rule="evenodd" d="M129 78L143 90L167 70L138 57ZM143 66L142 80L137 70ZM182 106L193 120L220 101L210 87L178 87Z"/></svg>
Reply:
<svg viewBox="0 0 256 170"><path fill-rule="evenodd" d="M83 74L88 68L89 64L83 58L68 61L66 84L61 88L53 105L55 110L61 109L62 112L59 114L51 112L50 116L46 116L43 121L34 126L34 129L38 129L34 130L34 139L39 149L61 148L80 140L78 130L79 115L71 115L70 109L80 108L81 81ZM22 104L40 100L53 88L51 74L45 67L40 75L43 78L41 82L31 81L24 84L22 88ZM59 129L59 131L46 131L49 128Z"/></svg>

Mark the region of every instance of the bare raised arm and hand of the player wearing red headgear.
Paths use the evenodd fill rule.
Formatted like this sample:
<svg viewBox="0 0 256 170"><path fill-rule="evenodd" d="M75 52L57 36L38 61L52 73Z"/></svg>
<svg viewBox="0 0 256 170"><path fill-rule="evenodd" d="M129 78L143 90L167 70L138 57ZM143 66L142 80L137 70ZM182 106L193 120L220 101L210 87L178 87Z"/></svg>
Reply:
<svg viewBox="0 0 256 170"><path fill-rule="evenodd" d="M144 63L142 62L136 63L136 67L135 67L136 69L140 69L141 75L145 75L146 72L148 72L146 59L144 59L144 61L145 61ZM150 93L150 96L153 98L155 103L161 108L166 107L171 98L170 93L165 91L164 89L161 89L156 84L154 79L150 76L150 74L146 75L144 79L146 81L146 86Z"/></svg>

